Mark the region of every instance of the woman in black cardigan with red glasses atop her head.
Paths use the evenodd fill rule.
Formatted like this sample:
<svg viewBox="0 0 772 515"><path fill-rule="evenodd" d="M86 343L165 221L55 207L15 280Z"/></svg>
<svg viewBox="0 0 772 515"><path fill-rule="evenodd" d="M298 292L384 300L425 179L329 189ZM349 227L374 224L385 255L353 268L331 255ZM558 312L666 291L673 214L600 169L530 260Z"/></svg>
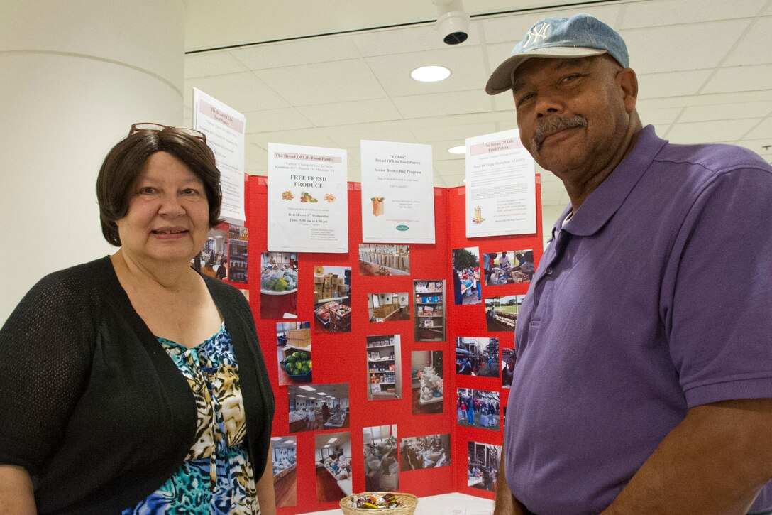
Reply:
<svg viewBox="0 0 772 515"><path fill-rule="evenodd" d="M0 329L8 513L276 513L249 305L190 267L220 210L205 141L133 125L97 178L120 249L43 278Z"/></svg>

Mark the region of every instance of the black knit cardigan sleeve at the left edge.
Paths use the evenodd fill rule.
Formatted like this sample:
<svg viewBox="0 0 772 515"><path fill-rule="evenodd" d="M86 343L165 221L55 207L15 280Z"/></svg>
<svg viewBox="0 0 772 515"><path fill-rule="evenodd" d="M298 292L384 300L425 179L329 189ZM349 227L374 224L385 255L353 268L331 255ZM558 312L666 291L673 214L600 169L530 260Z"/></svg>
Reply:
<svg viewBox="0 0 772 515"><path fill-rule="evenodd" d="M34 475L86 386L93 320L73 278L43 278L0 329L0 463Z"/></svg>

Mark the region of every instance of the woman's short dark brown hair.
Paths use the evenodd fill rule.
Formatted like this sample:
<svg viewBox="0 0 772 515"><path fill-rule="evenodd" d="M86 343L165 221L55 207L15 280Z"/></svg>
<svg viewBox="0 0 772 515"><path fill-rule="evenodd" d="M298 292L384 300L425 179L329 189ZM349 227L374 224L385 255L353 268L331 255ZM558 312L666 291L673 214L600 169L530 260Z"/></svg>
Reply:
<svg viewBox="0 0 772 515"><path fill-rule="evenodd" d="M147 158L155 152L168 152L184 162L204 183L209 205L209 227L220 220L220 171L215 154L201 139L185 132L166 128L163 131L139 131L117 143L104 158L97 176L102 234L108 243L120 247L116 220L126 216L134 182L140 176Z"/></svg>

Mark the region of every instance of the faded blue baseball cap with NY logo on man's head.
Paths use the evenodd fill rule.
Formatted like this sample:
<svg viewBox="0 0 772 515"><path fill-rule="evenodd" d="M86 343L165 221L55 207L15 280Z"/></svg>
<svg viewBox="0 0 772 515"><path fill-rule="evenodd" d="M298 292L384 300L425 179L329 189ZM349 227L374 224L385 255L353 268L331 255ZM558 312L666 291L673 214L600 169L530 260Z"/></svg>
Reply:
<svg viewBox="0 0 772 515"><path fill-rule="evenodd" d="M509 59L490 74L485 90L489 95L512 88L517 67L531 57L589 57L608 53L621 67L630 66L625 41L618 32L594 16L545 18L536 23L512 49Z"/></svg>

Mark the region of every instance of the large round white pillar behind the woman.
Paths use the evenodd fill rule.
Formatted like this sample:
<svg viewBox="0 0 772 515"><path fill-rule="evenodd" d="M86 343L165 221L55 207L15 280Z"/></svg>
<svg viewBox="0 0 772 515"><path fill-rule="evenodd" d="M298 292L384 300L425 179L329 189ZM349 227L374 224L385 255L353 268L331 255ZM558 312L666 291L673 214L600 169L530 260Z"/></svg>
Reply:
<svg viewBox="0 0 772 515"><path fill-rule="evenodd" d="M0 0L0 325L43 275L112 254L95 183L136 121L181 124L181 0Z"/></svg>

